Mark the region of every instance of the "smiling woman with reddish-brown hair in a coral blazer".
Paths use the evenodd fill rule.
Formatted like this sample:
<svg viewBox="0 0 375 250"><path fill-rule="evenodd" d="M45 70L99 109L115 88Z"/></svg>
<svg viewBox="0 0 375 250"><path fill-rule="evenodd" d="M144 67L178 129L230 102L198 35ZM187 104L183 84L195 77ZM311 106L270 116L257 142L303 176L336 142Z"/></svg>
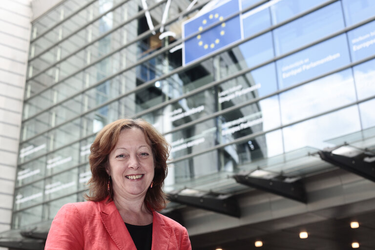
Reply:
<svg viewBox="0 0 375 250"><path fill-rule="evenodd" d="M88 202L64 205L52 222L46 250L191 250L187 230L157 213L168 144L142 119L106 125L92 144Z"/></svg>

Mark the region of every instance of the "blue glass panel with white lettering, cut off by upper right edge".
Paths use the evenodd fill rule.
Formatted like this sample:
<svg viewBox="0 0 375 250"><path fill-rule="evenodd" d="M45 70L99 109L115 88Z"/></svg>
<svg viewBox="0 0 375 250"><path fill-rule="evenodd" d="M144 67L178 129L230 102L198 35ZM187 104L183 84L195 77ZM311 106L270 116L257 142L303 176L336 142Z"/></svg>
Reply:
<svg viewBox="0 0 375 250"><path fill-rule="evenodd" d="M348 39L353 62L374 55L375 21L349 31Z"/></svg>

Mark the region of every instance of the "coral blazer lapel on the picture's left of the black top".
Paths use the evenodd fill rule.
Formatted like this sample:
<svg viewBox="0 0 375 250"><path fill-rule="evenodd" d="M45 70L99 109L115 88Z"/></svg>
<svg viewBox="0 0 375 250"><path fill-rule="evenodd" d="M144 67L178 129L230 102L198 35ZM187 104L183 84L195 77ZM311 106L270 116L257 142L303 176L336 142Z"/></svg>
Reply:
<svg viewBox="0 0 375 250"><path fill-rule="evenodd" d="M104 227L117 247L120 250L137 250L114 202L105 203L104 200L98 204Z"/></svg>

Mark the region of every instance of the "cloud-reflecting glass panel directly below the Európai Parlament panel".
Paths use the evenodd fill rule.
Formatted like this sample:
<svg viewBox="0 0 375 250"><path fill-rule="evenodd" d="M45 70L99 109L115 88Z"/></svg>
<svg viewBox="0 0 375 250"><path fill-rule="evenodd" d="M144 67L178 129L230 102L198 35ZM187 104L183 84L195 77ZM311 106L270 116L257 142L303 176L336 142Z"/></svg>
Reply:
<svg viewBox="0 0 375 250"><path fill-rule="evenodd" d="M355 100L352 70L347 69L281 93L282 123L289 124Z"/></svg>

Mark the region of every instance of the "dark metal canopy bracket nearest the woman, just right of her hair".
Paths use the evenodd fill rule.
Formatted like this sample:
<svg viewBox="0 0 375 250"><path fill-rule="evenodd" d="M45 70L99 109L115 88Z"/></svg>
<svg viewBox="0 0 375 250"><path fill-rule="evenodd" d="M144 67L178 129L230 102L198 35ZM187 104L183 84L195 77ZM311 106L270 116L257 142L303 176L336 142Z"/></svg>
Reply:
<svg viewBox="0 0 375 250"><path fill-rule="evenodd" d="M233 217L239 218L241 216L238 202L233 196L216 195L213 193L207 193L203 196L170 194L169 200Z"/></svg>

